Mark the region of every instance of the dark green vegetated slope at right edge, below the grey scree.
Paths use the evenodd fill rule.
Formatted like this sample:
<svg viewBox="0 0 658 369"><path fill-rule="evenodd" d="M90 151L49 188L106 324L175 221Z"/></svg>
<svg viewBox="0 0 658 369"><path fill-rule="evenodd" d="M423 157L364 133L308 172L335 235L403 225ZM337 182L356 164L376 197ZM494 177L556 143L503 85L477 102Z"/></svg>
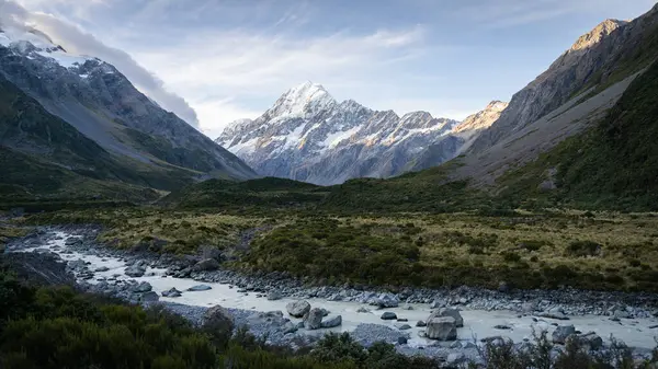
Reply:
<svg viewBox="0 0 658 369"><path fill-rule="evenodd" d="M656 210L657 138L658 62L632 83L598 127L501 177L501 196L540 205ZM558 189L541 192L548 169L557 170Z"/></svg>

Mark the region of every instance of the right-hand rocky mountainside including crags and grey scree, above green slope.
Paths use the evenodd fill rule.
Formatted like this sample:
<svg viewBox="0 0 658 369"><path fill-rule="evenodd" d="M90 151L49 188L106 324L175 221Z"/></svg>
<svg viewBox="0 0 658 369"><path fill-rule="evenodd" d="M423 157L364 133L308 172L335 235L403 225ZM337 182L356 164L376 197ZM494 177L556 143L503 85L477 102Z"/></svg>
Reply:
<svg viewBox="0 0 658 369"><path fill-rule="evenodd" d="M657 59L658 5L631 22L599 24L514 94L500 118L455 159L450 180L504 193L506 173L533 165L565 139L595 127ZM535 173L541 187L555 188L557 166L545 170Z"/></svg>

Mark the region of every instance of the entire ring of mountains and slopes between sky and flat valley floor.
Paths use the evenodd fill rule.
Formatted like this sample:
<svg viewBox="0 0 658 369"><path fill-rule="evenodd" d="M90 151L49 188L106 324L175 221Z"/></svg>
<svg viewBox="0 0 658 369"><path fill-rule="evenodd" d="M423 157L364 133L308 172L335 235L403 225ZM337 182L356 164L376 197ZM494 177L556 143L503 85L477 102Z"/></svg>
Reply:
<svg viewBox="0 0 658 369"><path fill-rule="evenodd" d="M602 22L509 104L494 101L463 122L373 111L305 82L216 142L111 65L70 55L37 31L5 31L0 197L152 199L154 188L217 177L227 181L170 198L259 203L250 194L264 183L276 187L268 196L277 205L313 199L354 211L447 211L494 204L488 196L514 207L656 208L658 5L629 22ZM231 182L259 176L340 185L266 178L245 189ZM290 186L299 193L284 196Z"/></svg>

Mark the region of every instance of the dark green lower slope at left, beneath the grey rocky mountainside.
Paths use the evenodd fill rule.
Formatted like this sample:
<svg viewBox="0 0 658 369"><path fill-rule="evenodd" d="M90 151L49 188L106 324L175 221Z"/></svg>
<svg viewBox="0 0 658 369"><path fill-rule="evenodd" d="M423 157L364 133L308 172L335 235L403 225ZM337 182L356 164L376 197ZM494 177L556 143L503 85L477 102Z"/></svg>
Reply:
<svg viewBox="0 0 658 369"><path fill-rule="evenodd" d="M0 203L152 200L197 173L118 159L0 76ZM7 205L10 206L10 205Z"/></svg>

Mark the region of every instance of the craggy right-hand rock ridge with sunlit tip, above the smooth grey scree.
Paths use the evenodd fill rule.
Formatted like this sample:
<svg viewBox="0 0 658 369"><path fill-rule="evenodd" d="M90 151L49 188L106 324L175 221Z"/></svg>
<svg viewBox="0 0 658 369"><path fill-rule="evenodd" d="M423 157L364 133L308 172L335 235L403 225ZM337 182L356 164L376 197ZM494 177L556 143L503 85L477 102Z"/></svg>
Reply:
<svg viewBox="0 0 658 369"><path fill-rule="evenodd" d="M606 20L597 25L515 93L469 151L483 152L574 97L582 101L646 67L658 56L657 25L658 5L632 22Z"/></svg>

